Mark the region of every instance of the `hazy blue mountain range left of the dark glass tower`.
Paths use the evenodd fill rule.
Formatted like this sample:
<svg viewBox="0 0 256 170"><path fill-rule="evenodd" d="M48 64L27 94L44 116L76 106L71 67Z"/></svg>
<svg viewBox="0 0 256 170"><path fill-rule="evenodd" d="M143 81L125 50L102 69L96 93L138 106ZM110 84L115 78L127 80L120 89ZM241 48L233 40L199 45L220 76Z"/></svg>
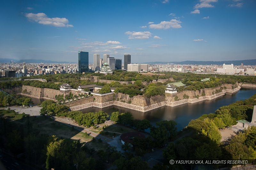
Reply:
<svg viewBox="0 0 256 170"><path fill-rule="evenodd" d="M24 59L24 60L16 60L12 58L0 58L0 63L10 63L13 61L14 63L46 63L46 64L68 64L66 61L51 61L51 60L36 60L36 59ZM76 64L76 62L70 62L71 64Z"/></svg>

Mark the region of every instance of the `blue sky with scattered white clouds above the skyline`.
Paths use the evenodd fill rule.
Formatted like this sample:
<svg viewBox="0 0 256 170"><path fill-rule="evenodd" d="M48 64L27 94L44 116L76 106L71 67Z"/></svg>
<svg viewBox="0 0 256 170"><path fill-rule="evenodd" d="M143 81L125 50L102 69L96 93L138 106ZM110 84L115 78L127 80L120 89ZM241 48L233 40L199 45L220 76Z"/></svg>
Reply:
<svg viewBox="0 0 256 170"><path fill-rule="evenodd" d="M255 59L256 0L4 1L0 58Z"/></svg>

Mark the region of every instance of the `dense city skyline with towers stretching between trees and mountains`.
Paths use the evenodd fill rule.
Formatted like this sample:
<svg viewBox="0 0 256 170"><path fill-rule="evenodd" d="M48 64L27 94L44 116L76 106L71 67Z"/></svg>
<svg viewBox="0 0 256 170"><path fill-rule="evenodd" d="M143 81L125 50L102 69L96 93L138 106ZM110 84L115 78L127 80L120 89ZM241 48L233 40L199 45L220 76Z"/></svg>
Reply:
<svg viewBox="0 0 256 170"><path fill-rule="evenodd" d="M1 77L33 76L47 74L64 74L64 73L85 73L85 72L100 72L113 73L113 70L127 70L136 72L195 72L195 73L212 73L212 74L228 74L228 75L255 75L255 65L234 66L233 64L223 65L180 65L180 64L145 64L132 63L130 54L124 55L124 64L122 59L109 57L109 54L104 54L100 58L100 54L93 55L93 64L89 64L88 52L78 52L78 64L44 64L44 63L0 63ZM104 63L107 63L109 69L102 71ZM80 68L80 69L79 69ZM107 72L106 72L107 71Z"/></svg>

